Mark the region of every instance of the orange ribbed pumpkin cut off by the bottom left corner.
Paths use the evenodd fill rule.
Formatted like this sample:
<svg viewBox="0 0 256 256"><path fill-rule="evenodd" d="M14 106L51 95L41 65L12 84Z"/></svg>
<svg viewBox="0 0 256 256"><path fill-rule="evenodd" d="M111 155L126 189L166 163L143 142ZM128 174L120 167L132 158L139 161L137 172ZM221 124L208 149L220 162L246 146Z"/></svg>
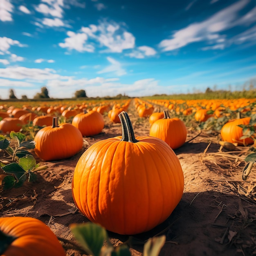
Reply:
<svg viewBox="0 0 256 256"><path fill-rule="evenodd" d="M17 237L2 256L65 256L57 237L47 225L30 217L0 218L0 230Z"/></svg>

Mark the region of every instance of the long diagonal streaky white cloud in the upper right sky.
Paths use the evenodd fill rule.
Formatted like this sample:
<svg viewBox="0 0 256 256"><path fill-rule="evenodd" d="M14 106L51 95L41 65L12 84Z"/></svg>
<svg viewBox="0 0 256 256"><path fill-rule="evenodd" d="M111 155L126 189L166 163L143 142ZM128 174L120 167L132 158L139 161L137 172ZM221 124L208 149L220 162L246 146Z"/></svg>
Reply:
<svg viewBox="0 0 256 256"><path fill-rule="evenodd" d="M190 43L209 40L214 37L218 39L218 32L225 31L237 25L237 13L249 0L240 0L229 7L219 11L209 19L197 22L176 31L171 39L162 40L159 47L163 52L172 51L184 47Z"/></svg>

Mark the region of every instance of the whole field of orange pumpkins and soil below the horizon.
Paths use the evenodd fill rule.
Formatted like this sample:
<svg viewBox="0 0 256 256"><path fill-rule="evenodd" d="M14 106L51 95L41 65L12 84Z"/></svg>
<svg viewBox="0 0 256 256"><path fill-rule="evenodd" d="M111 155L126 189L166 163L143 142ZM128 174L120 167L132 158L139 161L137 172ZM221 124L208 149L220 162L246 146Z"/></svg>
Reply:
<svg viewBox="0 0 256 256"><path fill-rule="evenodd" d="M256 99L0 102L0 254L110 255L95 222L111 255L256 255L255 125Z"/></svg>

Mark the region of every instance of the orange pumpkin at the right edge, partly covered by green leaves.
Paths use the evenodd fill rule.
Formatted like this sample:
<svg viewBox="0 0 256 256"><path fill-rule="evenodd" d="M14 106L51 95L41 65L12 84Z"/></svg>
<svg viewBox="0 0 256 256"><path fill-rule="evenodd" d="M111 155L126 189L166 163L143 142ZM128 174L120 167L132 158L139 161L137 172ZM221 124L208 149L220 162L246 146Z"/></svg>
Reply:
<svg viewBox="0 0 256 256"><path fill-rule="evenodd" d="M243 129L239 127L238 124L249 124L250 119L251 117L245 117L227 122L220 131L222 140L230 143L238 142L239 145L254 144L254 141L250 138L240 139L240 137L243 136Z"/></svg>

